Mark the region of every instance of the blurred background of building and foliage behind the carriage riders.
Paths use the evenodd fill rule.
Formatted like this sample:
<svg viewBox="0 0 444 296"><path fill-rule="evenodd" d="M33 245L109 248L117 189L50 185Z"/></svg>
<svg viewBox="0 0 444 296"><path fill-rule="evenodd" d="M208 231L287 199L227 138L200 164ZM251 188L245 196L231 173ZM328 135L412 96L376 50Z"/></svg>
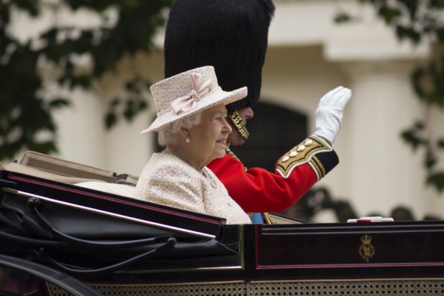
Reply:
<svg viewBox="0 0 444 296"><path fill-rule="evenodd" d="M0 0L0 159L27 150L140 175L140 135L164 78L173 0ZM314 130L319 99L352 90L340 164L287 214L308 221L444 210L442 1L274 0L250 137L233 152L273 171ZM239 44L241 47L242 44Z"/></svg>

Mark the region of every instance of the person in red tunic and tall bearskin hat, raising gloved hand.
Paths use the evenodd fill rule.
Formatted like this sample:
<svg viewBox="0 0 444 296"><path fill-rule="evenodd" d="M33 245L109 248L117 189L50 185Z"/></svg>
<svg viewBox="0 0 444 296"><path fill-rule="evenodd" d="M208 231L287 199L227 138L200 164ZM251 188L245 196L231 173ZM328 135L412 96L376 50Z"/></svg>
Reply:
<svg viewBox="0 0 444 296"><path fill-rule="evenodd" d="M245 99L227 106L231 146L243 144L248 137L245 124L259 100L273 12L271 0L176 0L171 7L164 44L166 78L209 65L224 90L248 87ZM281 212L338 164L331 144L350 97L345 87L322 97L313 134L285 152L273 172L246 169L228 147L226 155L208 167L244 211Z"/></svg>

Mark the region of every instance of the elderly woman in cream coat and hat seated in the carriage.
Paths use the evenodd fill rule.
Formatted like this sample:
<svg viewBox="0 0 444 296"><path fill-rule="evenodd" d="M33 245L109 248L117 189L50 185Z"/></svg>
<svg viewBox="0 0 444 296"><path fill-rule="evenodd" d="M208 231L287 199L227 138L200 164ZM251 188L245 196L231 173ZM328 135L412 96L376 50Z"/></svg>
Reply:
<svg viewBox="0 0 444 296"><path fill-rule="evenodd" d="M214 68L180 73L150 87L157 117L143 133L157 131L159 144L140 175L136 197L226 218L229 224L251 223L228 196L206 164L225 155L231 132L226 104L247 96L247 87L225 92Z"/></svg>

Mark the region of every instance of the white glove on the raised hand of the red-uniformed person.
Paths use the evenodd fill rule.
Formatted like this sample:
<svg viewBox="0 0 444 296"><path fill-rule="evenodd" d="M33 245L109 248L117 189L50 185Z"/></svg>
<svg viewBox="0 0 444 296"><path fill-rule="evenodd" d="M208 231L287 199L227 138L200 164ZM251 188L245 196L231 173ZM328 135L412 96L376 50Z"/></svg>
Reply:
<svg viewBox="0 0 444 296"><path fill-rule="evenodd" d="M333 144L340 130L340 124L343 121L343 110L347 102L352 97L352 91L347 87L336 87L327 92L319 100L318 108L314 113L316 127L314 136L323 137Z"/></svg>

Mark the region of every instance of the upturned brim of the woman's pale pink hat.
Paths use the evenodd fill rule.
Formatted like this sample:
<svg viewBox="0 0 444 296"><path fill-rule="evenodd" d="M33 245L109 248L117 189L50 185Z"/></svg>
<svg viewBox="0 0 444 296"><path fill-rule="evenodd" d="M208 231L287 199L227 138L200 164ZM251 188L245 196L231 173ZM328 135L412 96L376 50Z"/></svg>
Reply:
<svg viewBox="0 0 444 296"><path fill-rule="evenodd" d="M149 125L149 128L142 130L140 133L146 134L147 132L158 131L164 125L174 123L175 121L179 121L182 118L191 116L200 111L204 111L218 104L227 105L233 103L233 101L238 101L247 97L247 94L247 87L241 87L240 89L233 90L231 92L219 90L213 94L208 94L205 97L202 97L201 100L197 101L197 106L195 109L180 114L176 114L173 110L170 110L167 113L161 114L161 116L157 116L153 123Z"/></svg>

